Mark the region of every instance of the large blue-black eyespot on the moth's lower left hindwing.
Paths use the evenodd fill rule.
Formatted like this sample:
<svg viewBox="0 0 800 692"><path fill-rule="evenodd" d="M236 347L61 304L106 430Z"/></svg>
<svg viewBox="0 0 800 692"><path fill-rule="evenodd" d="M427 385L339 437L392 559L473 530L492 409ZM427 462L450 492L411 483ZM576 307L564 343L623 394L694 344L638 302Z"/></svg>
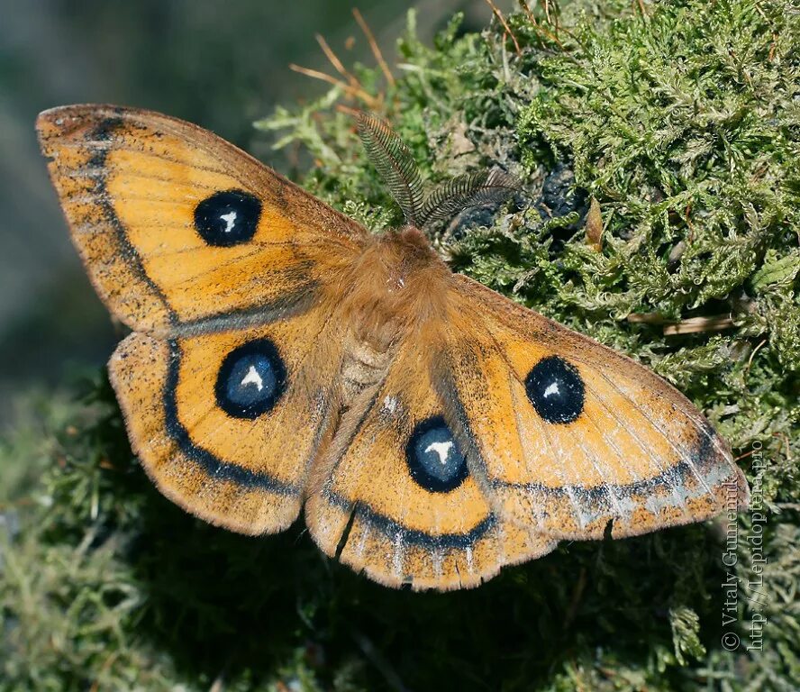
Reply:
<svg viewBox="0 0 800 692"><path fill-rule="evenodd" d="M235 418L266 414L286 389L286 367L268 339L248 341L231 351L217 374L217 405Z"/></svg>

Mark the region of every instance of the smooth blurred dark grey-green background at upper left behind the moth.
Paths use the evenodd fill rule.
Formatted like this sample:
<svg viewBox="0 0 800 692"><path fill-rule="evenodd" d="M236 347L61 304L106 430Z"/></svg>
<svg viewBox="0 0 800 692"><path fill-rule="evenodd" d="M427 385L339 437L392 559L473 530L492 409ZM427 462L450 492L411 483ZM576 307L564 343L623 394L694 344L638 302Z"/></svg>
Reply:
<svg viewBox="0 0 800 692"><path fill-rule="evenodd" d="M252 122L324 85L288 68L330 71L321 33L346 64L372 64L356 0L0 0L0 431L21 397L57 390L107 360L120 334L68 239L33 132L46 108L136 105L209 128L283 168ZM502 11L513 0L496 0ZM389 63L418 10L423 41L452 14L489 22L484 0L383 0L359 7Z"/></svg>

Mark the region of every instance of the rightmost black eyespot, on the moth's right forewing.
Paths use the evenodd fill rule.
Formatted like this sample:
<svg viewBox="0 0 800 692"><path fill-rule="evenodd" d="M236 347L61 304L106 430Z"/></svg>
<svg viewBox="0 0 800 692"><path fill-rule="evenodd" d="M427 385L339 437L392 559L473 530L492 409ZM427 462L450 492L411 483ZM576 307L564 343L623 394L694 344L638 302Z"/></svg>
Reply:
<svg viewBox="0 0 800 692"><path fill-rule="evenodd" d="M577 368L558 356L541 359L525 378L525 392L548 423L572 423L583 412L585 389Z"/></svg>

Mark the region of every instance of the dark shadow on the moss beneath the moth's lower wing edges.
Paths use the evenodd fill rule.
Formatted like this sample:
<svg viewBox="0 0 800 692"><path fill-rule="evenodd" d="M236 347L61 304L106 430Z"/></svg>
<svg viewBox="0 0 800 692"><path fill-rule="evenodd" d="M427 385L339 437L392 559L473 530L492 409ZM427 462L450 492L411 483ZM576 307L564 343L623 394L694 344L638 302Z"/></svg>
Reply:
<svg viewBox="0 0 800 692"><path fill-rule="evenodd" d="M112 396L104 384L92 396L95 418L64 436L38 547L71 544L86 560L110 551L116 583L101 589L93 619L119 618L125 639L168 654L178 679L258 687L308 669L337 688L358 661L361 688L491 687L480 681L498 665L510 688L524 688L581 665L587 651L636 667L658 664L656 651L669 666L672 612L713 621L720 611L721 592L707 590L723 578L719 542L697 526L568 544L471 591L379 587L325 558L298 524L248 538L169 503L131 459ZM703 652L699 642L691 651Z"/></svg>

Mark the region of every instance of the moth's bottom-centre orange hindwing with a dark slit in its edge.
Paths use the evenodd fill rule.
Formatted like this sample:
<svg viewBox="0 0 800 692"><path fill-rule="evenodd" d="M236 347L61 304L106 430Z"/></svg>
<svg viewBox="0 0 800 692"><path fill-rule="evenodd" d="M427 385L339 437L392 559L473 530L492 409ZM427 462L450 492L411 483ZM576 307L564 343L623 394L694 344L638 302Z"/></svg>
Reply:
<svg viewBox="0 0 800 692"><path fill-rule="evenodd" d="M330 556L390 587L474 587L555 541L501 519L441 420L431 351L407 343L314 469L305 521ZM355 412L359 412L356 414Z"/></svg>

